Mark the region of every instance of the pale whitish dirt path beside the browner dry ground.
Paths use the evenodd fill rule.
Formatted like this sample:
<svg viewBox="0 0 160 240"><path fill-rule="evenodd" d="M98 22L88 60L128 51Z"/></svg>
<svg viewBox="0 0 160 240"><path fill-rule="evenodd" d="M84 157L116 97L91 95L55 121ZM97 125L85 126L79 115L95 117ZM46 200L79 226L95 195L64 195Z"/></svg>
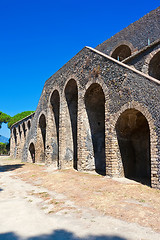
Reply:
<svg viewBox="0 0 160 240"><path fill-rule="evenodd" d="M160 239L160 233L151 228L77 206L63 193L41 187L40 178L37 186L22 181L22 172L17 171L22 167L18 161L0 157L0 239Z"/></svg>

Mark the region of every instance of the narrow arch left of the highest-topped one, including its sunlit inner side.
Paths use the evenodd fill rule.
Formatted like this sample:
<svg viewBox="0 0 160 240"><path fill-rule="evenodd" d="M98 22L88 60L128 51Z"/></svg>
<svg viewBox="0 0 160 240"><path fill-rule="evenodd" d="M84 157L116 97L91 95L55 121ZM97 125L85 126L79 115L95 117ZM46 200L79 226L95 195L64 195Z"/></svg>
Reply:
<svg viewBox="0 0 160 240"><path fill-rule="evenodd" d="M57 90L52 92L50 97L50 105L52 110L52 129L51 146L52 146L52 161L57 161L59 167L59 115L60 115L60 95Z"/></svg>

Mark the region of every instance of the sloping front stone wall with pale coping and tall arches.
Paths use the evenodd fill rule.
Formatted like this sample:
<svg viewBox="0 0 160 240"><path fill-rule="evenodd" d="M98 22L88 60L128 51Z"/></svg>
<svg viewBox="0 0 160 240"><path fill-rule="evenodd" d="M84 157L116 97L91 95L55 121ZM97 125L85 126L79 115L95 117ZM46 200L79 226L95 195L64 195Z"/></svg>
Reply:
<svg viewBox="0 0 160 240"><path fill-rule="evenodd" d="M140 114L148 124L149 180L160 188L159 102L159 81L86 47L46 81L22 159L124 176L116 124L128 111L128 132Z"/></svg>

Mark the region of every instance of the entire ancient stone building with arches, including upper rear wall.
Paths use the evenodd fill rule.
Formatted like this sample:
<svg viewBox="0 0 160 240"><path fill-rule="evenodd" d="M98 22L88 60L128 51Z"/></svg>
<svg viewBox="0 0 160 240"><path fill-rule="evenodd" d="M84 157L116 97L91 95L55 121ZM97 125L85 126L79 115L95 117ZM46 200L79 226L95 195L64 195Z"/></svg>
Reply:
<svg viewBox="0 0 160 240"><path fill-rule="evenodd" d="M11 156L160 189L159 32L160 7L83 48L46 81L35 114L11 127Z"/></svg>

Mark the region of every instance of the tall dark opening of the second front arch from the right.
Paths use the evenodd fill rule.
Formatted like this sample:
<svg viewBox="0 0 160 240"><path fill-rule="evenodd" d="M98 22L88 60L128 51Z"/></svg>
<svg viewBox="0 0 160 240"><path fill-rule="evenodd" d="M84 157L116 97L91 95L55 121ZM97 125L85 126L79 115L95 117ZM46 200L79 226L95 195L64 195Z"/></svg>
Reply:
<svg viewBox="0 0 160 240"><path fill-rule="evenodd" d="M95 170L105 175L105 96L99 84L94 83L87 89L85 106L91 131Z"/></svg>

